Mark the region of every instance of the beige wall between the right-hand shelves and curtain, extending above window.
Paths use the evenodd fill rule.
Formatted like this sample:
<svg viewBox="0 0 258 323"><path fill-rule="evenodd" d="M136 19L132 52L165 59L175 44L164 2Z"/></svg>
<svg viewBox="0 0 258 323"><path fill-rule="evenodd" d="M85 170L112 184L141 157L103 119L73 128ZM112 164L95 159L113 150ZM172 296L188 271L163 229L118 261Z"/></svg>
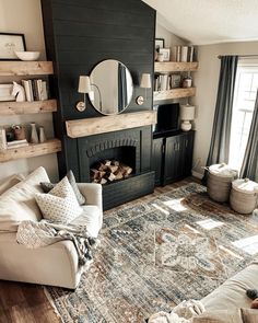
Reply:
<svg viewBox="0 0 258 323"><path fill-rule="evenodd" d="M199 69L194 74L197 96L194 171L202 174L210 148L220 73L219 55L258 55L258 42L226 43L198 47ZM195 173L194 173L195 174Z"/></svg>

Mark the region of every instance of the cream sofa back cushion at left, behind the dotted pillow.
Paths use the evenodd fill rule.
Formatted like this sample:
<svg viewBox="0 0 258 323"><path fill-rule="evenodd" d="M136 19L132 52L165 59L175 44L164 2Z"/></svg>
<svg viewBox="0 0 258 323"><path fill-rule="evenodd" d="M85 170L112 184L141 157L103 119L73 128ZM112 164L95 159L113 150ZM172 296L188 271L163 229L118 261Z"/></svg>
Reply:
<svg viewBox="0 0 258 323"><path fill-rule="evenodd" d="M16 232L21 221L42 219L35 200L35 194L43 192L42 181L48 181L48 176L44 168L38 168L0 196L0 231Z"/></svg>

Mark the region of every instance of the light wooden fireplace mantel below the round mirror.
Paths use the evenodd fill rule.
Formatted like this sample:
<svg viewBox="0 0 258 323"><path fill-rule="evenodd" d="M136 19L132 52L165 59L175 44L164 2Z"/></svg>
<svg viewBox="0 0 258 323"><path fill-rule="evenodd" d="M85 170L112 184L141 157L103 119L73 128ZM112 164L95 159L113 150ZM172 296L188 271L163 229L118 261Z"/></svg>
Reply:
<svg viewBox="0 0 258 323"><path fill-rule="evenodd" d="M126 130L156 124L155 111L142 111L134 113L85 118L66 122L67 135L70 138Z"/></svg>

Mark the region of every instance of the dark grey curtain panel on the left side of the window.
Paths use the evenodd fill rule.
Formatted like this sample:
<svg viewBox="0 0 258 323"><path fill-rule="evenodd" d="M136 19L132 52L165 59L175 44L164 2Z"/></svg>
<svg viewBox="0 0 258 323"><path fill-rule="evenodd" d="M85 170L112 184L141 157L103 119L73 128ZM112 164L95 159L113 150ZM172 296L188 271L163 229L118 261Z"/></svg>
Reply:
<svg viewBox="0 0 258 323"><path fill-rule="evenodd" d="M238 56L223 56L207 166L228 162L231 120ZM207 175L207 174L206 174ZM206 182L204 175L204 182Z"/></svg>

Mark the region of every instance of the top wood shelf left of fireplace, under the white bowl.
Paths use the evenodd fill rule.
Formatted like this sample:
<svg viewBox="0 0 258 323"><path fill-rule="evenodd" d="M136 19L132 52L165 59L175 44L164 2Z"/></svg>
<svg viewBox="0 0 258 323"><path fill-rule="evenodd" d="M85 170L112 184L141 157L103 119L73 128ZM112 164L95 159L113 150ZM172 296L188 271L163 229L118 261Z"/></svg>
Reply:
<svg viewBox="0 0 258 323"><path fill-rule="evenodd" d="M0 61L0 77L52 74L51 61Z"/></svg>

